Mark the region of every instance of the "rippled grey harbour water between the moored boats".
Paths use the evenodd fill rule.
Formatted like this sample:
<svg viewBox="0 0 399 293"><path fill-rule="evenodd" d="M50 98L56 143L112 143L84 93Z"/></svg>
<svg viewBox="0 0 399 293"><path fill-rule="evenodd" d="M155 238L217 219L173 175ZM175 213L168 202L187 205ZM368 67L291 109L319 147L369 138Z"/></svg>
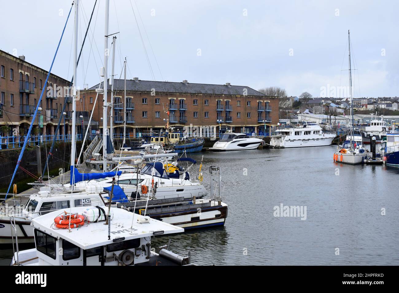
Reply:
<svg viewBox="0 0 399 293"><path fill-rule="evenodd" d="M191 251L192 262L202 265L398 265L399 168L334 163L335 150L191 154L198 165L204 156L207 188L207 168L221 167L229 213L223 228L170 236L170 250ZM306 220L275 217L281 204L306 207ZM0 264L9 264L11 255L12 249L0 248Z"/></svg>

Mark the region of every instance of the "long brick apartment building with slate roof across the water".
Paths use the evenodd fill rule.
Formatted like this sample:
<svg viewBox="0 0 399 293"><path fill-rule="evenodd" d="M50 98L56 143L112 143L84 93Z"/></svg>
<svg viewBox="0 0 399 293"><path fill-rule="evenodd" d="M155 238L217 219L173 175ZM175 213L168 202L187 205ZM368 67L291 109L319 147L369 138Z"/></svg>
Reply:
<svg viewBox="0 0 399 293"><path fill-rule="evenodd" d="M87 114L94 111L93 119L99 121L99 128L102 128L102 96L99 96L93 109L95 88L98 87L99 84L89 88L84 93L84 99ZM110 101L109 83L108 90ZM113 129L116 134L123 133L123 95L124 80L115 79ZM130 136L134 136L136 132L165 128L167 110L170 112L170 125L180 131L184 126L192 124L215 126L218 133L217 120L221 120L221 132L265 132L265 124L266 132L269 132L269 128L279 122L279 99L265 96L250 87L229 83L209 85L187 81L142 81L138 78L126 81L126 133Z"/></svg>

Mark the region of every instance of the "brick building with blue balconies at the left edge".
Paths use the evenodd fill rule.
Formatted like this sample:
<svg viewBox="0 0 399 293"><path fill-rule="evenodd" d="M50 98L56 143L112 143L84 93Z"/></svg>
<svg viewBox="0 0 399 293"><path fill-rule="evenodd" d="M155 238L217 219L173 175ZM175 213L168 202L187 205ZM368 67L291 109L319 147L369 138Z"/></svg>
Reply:
<svg viewBox="0 0 399 293"><path fill-rule="evenodd" d="M15 57L0 50L0 103L2 104L2 117L0 118L0 133L2 136L13 134L16 128L22 136L28 132L32 123L32 116L36 109L38 100L48 71L41 69L25 61L24 56ZM51 74L48 86L69 87L69 81ZM40 117L37 116L34 123L33 134L52 135L61 115L63 97L57 97L55 92L43 94L40 107L43 114L43 128L40 126ZM65 112L67 113L61 124L59 134L71 133L71 111L72 105L68 102ZM65 126L64 126L65 121ZM8 131L4 126L8 126ZM65 129L65 132L64 132Z"/></svg>

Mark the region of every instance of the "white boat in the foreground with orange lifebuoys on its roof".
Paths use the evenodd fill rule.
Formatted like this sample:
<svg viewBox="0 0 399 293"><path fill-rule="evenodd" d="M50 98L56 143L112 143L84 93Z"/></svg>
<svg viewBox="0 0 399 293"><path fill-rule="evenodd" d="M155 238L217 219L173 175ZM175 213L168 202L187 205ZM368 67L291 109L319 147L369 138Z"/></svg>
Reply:
<svg viewBox="0 0 399 293"><path fill-rule="evenodd" d="M17 251L11 265L188 265L190 257L151 247L156 235L184 232L168 223L132 214L120 208L79 207L65 216L82 218L79 228L57 228L51 212L32 220L36 248ZM106 220L108 218L108 226ZM60 252L60 253L59 253Z"/></svg>

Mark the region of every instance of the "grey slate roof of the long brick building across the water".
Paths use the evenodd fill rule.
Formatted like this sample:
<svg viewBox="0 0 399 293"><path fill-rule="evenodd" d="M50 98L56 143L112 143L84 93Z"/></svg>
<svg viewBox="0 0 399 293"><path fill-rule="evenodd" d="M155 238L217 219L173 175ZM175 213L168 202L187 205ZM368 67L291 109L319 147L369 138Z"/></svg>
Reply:
<svg viewBox="0 0 399 293"><path fill-rule="evenodd" d="M99 84L89 88L89 90L95 90L99 87ZM103 83L101 83L103 87ZM244 89L247 89L248 96L265 96L261 92L254 90L250 87L241 85L209 85L204 83L175 83L170 81L134 81L126 80L126 90L128 91L140 91L140 92L151 92L151 89L155 88L156 92L170 92L170 93L186 93L186 94L225 94L225 95L243 95ZM111 89L111 85L108 83L108 89ZM114 79L114 90L124 89L123 79Z"/></svg>

